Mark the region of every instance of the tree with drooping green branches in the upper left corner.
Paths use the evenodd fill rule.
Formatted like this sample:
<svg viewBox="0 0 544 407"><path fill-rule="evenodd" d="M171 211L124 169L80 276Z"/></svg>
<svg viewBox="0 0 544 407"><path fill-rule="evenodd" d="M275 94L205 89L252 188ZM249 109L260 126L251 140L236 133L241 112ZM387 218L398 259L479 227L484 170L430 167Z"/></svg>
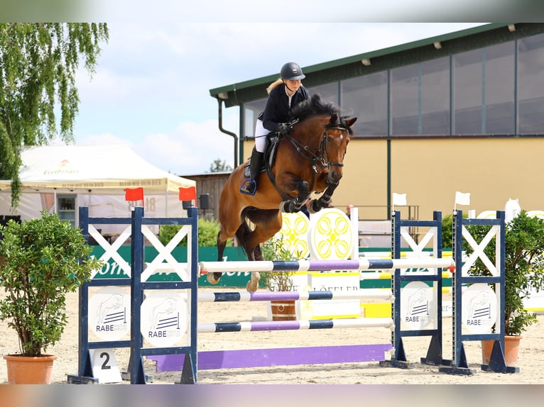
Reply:
<svg viewBox="0 0 544 407"><path fill-rule="evenodd" d="M75 74L80 60L94 74L99 43L107 40L106 23L0 23L0 179L12 180L13 208L21 148L74 140Z"/></svg>

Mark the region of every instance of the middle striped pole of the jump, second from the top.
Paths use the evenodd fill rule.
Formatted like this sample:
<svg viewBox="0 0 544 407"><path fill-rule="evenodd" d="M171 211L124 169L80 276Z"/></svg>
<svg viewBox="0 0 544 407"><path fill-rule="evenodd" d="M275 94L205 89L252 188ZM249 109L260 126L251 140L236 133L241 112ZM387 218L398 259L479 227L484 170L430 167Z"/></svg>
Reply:
<svg viewBox="0 0 544 407"><path fill-rule="evenodd" d="M337 300L362 299L393 302L391 290L361 289L359 291L232 291L216 293L198 293L198 302L244 302L244 301L289 301L289 300Z"/></svg>

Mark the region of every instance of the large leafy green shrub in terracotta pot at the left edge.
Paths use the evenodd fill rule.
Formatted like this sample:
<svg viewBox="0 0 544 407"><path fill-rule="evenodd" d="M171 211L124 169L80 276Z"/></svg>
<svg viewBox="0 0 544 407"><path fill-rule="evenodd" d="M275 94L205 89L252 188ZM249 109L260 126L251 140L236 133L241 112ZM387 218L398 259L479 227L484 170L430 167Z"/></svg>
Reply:
<svg viewBox="0 0 544 407"><path fill-rule="evenodd" d="M18 372L34 372L43 365L45 377L24 383L49 383L54 355L44 352L60 340L67 323L65 296L76 291L102 262L88 258L92 247L79 228L55 213L0 228L0 319L18 335L20 353L4 355L8 381L19 383ZM47 360L46 363L44 361ZM26 367L14 366L24 362Z"/></svg>

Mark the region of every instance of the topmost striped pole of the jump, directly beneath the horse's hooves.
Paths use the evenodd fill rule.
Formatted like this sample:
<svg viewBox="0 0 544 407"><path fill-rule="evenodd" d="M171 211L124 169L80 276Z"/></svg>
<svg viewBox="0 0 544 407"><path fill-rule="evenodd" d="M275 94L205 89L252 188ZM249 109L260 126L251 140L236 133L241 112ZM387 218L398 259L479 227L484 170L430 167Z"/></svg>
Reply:
<svg viewBox="0 0 544 407"><path fill-rule="evenodd" d="M452 257L404 257L403 259L288 260L262 262L200 262L200 274L213 272L324 272L332 270L394 270L455 266Z"/></svg>

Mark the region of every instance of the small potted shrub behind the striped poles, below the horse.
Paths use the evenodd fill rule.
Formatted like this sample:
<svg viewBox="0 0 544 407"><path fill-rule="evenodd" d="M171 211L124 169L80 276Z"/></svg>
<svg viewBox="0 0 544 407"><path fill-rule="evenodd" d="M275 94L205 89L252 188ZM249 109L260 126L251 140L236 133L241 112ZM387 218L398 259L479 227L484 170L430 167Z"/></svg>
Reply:
<svg viewBox="0 0 544 407"><path fill-rule="evenodd" d="M283 242L283 235L275 236L261 247L263 260L297 260L298 256L291 252ZM294 272L261 273L261 281L270 291L292 291ZM295 320L295 301L270 301L272 320Z"/></svg>

